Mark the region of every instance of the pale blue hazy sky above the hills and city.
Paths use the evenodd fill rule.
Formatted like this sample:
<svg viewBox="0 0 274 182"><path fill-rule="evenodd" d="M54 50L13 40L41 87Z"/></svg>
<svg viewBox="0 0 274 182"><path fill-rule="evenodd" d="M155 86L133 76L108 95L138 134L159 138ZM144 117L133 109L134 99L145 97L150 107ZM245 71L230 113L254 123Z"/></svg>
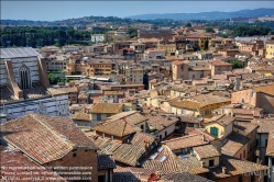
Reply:
<svg viewBox="0 0 274 182"><path fill-rule="evenodd" d="M89 15L195 13L274 8L274 1L1 1L1 19L54 21Z"/></svg>

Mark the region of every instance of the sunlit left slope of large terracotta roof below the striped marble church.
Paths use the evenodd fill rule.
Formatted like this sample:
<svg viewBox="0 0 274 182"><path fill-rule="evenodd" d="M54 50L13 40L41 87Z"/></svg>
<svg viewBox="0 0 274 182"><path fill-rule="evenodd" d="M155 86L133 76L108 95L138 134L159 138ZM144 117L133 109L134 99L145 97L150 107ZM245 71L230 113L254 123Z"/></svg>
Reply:
<svg viewBox="0 0 274 182"><path fill-rule="evenodd" d="M3 138L39 163L57 160L67 155L73 143L47 128L32 115L25 115L1 125Z"/></svg>

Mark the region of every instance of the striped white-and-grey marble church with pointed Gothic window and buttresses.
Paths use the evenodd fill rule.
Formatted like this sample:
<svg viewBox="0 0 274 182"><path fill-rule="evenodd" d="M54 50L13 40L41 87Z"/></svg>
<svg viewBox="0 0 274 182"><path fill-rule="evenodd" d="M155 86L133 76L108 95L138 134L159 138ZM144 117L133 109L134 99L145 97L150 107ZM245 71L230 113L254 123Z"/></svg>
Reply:
<svg viewBox="0 0 274 182"><path fill-rule="evenodd" d="M33 48L1 48L0 72L1 123L30 112L68 115L67 94L50 88L45 61Z"/></svg>

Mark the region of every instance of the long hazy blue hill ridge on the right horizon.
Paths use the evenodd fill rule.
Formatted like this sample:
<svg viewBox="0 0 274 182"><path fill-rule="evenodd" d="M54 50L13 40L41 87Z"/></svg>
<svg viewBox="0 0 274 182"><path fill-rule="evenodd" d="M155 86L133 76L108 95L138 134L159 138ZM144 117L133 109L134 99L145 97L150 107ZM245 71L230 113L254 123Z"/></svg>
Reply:
<svg viewBox="0 0 274 182"><path fill-rule="evenodd" d="M257 18L272 16L274 9L260 8L254 10L240 10L233 12L200 12L200 13L165 13L165 14L140 14L127 16L133 20L156 20L156 19L173 19L173 20L223 20L230 18Z"/></svg>

